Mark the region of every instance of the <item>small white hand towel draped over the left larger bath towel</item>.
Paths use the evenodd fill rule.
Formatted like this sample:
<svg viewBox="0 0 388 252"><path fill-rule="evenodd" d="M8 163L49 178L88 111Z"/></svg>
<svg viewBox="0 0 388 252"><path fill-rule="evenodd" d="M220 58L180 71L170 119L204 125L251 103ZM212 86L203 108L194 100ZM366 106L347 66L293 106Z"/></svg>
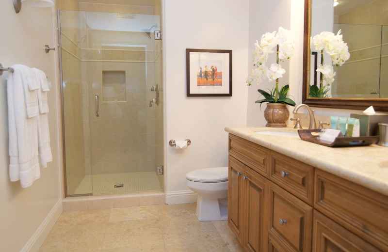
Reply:
<svg viewBox="0 0 388 252"><path fill-rule="evenodd" d="M38 82L36 81L35 73L28 66L15 64L14 70L18 70L18 74L21 76L25 96L25 106L27 108L27 116L31 118L39 114L38 95L36 90L39 89ZM15 74L14 74L15 75Z"/></svg>

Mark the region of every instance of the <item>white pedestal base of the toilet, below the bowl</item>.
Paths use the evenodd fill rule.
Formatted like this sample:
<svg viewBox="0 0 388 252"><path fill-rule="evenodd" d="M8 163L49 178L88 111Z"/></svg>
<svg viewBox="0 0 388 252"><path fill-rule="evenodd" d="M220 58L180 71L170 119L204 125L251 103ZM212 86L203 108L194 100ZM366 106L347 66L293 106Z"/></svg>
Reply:
<svg viewBox="0 0 388 252"><path fill-rule="evenodd" d="M198 195L195 216L198 221L227 220L227 197L222 199L205 198Z"/></svg>

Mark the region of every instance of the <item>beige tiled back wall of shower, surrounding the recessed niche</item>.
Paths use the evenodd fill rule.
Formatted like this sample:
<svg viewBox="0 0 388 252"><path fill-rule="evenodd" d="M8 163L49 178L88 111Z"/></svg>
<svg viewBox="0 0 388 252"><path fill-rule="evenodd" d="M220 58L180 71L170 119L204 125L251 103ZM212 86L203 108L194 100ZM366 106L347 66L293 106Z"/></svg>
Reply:
<svg viewBox="0 0 388 252"><path fill-rule="evenodd" d="M149 107L149 99L155 98L150 91L155 70L154 61L146 60L153 58L153 40L140 32L87 32L82 79L89 89L83 102L89 118L93 174L155 171L157 108ZM145 47L101 46L107 44ZM102 71L125 71L125 101L104 101ZM96 93L100 95L99 117L95 115Z"/></svg>

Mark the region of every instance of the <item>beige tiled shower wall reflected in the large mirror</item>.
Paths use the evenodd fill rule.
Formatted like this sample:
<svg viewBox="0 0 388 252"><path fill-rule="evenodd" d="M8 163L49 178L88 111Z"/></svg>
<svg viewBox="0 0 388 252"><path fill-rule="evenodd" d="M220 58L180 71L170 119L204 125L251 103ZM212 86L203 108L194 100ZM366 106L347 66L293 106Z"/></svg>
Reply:
<svg viewBox="0 0 388 252"><path fill-rule="evenodd" d="M332 95L338 98L376 98L376 94L371 93L379 91L381 25L388 24L388 0L363 5L340 15L338 21L351 57L337 68ZM384 53L384 47L382 52L381 55L388 55ZM383 63L384 60L382 69Z"/></svg>

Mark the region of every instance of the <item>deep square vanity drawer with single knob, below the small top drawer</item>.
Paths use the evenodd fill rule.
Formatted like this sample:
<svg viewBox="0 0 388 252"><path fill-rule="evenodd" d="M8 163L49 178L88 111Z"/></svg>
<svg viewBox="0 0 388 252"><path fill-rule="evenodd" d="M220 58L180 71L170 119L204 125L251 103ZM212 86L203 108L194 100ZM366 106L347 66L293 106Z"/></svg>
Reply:
<svg viewBox="0 0 388 252"><path fill-rule="evenodd" d="M311 251L312 207L270 183L270 236L289 251Z"/></svg>

